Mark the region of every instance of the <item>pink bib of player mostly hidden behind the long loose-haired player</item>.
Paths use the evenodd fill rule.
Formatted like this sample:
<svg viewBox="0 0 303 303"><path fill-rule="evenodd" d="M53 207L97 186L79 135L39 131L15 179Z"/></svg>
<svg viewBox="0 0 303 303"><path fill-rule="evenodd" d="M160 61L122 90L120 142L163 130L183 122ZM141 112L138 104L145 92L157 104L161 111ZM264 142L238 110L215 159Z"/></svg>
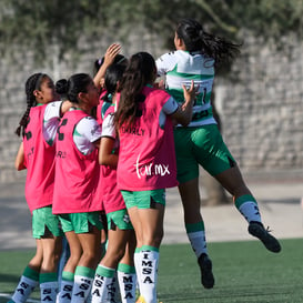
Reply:
<svg viewBox="0 0 303 303"><path fill-rule="evenodd" d="M107 121L105 118L113 112L114 107L112 105L107 110L103 121ZM118 143L118 139L112 139L117 140L115 142ZM119 153L118 144L113 152ZM101 165L101 172L103 185L103 206L105 213L125 209L123 196L117 186L117 170L108 165Z"/></svg>

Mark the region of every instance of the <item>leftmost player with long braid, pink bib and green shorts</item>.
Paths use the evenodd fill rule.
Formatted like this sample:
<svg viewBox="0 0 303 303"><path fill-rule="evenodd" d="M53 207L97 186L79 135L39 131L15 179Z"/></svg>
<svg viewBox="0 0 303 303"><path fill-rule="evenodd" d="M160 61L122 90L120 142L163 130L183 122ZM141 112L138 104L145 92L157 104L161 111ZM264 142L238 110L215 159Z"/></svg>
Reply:
<svg viewBox="0 0 303 303"><path fill-rule="evenodd" d="M37 252L26 267L12 295L12 302L26 302L40 283L41 302L55 302L58 261L62 230L52 214L55 132L70 102L58 100L53 81L46 73L34 73L26 82L27 110L17 129L23 141L16 158L16 169L27 169L26 199L32 214L32 235ZM57 99L58 98L58 99Z"/></svg>

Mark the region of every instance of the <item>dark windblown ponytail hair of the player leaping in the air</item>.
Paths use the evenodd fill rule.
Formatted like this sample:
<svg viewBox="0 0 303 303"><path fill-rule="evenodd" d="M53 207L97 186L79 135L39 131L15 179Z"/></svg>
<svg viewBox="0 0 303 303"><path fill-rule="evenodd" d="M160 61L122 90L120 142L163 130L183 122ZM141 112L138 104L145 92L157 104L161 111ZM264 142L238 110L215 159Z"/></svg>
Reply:
<svg viewBox="0 0 303 303"><path fill-rule="evenodd" d="M240 54L241 44L205 32L194 19L181 20L175 32L178 38L184 41L188 51L201 51L205 57L214 60L214 67L231 62Z"/></svg>

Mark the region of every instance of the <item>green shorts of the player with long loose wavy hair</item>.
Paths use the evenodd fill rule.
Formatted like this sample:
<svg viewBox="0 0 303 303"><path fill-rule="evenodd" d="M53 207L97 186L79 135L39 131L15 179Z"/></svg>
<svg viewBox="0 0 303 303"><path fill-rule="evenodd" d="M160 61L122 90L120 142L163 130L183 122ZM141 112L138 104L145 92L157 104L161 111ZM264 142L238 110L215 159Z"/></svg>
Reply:
<svg viewBox="0 0 303 303"><path fill-rule="evenodd" d="M165 189L152 191L121 191L127 209L154 209L155 203L165 205Z"/></svg>

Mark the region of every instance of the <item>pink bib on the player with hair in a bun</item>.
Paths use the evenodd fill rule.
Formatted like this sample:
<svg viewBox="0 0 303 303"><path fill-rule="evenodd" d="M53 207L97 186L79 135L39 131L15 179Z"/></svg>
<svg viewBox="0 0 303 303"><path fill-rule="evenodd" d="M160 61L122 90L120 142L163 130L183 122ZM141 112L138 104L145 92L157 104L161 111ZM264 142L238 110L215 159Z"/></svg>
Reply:
<svg viewBox="0 0 303 303"><path fill-rule="evenodd" d="M54 214L101 210L98 149L85 155L73 142L73 130L85 117L89 115L81 110L69 111L58 129L52 206Z"/></svg>

